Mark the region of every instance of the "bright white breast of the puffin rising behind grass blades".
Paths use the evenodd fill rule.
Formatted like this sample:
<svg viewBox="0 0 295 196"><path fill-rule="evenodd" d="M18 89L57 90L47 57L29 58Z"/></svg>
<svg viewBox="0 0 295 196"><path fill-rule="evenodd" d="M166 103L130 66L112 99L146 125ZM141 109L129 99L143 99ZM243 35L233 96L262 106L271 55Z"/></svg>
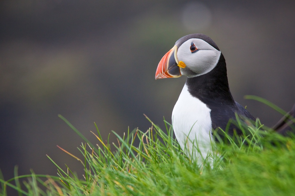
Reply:
<svg viewBox="0 0 295 196"><path fill-rule="evenodd" d="M206 104L191 96L185 84L172 112L172 125L180 147L199 164L207 156L209 164L212 163L214 139L210 112Z"/></svg>

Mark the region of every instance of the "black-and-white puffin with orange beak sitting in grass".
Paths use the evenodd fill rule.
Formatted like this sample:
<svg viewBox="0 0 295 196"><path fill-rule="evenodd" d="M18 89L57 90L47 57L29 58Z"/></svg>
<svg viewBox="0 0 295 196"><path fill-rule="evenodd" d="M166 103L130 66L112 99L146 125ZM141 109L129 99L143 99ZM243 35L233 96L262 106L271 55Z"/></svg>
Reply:
<svg viewBox="0 0 295 196"><path fill-rule="evenodd" d="M187 79L173 108L173 131L192 161L212 165L217 142L214 130L219 136L223 131L241 135L240 127L229 122L235 122L238 117L245 127L255 127L256 119L233 99L224 56L209 36L190 34L178 39L160 60L155 79L182 75ZM281 128L280 125L277 127Z"/></svg>

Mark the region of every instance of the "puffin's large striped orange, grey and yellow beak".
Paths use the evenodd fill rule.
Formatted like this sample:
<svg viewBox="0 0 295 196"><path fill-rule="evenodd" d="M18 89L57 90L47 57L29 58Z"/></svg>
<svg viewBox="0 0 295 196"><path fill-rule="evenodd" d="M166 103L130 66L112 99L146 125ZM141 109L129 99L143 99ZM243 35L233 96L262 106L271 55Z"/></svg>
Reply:
<svg viewBox="0 0 295 196"><path fill-rule="evenodd" d="M180 67L185 68L186 65L182 61L178 62L176 54L177 46L175 45L160 60L156 70L155 79L181 77Z"/></svg>

